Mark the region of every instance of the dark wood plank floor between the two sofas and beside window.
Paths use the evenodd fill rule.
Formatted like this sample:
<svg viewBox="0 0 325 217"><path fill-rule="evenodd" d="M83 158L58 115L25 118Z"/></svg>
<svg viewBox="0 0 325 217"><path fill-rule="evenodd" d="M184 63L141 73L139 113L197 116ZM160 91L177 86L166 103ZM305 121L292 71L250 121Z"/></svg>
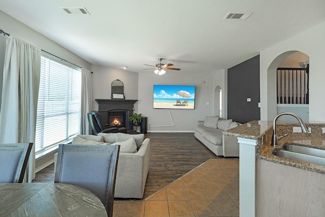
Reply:
<svg viewBox="0 0 325 217"><path fill-rule="evenodd" d="M194 133L147 133L151 157L143 199L211 158L220 158ZM54 182L54 164L36 173L33 182Z"/></svg>

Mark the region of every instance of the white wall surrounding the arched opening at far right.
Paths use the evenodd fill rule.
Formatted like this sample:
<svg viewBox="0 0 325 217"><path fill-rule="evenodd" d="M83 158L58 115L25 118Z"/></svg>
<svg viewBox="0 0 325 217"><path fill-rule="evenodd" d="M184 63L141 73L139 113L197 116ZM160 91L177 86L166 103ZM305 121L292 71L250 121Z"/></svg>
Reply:
<svg viewBox="0 0 325 217"><path fill-rule="evenodd" d="M276 115L276 89L273 60L287 51L301 51L309 56L309 121L325 121L325 22L284 40L260 53L261 120ZM288 52L289 54L290 52ZM287 54L287 55L288 55ZM280 60L275 60L281 62ZM279 65L277 63L277 66ZM271 66L271 67L270 67ZM269 69L269 73L268 73ZM274 87L273 87L274 86Z"/></svg>

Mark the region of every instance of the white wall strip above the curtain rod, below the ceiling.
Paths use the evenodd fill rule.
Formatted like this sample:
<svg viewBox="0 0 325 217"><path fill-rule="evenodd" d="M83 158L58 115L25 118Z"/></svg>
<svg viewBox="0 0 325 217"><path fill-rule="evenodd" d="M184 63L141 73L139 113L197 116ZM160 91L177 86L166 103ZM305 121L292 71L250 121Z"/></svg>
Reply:
<svg viewBox="0 0 325 217"><path fill-rule="evenodd" d="M35 30L29 28L25 24L19 22L1 10L0 21L0 28L3 29L4 32L20 38L21 40L35 45L36 47L52 53L62 59L66 59L67 61L70 61L77 66L83 67L85 69L90 69L90 64L84 59L61 47L60 45L39 34Z"/></svg>

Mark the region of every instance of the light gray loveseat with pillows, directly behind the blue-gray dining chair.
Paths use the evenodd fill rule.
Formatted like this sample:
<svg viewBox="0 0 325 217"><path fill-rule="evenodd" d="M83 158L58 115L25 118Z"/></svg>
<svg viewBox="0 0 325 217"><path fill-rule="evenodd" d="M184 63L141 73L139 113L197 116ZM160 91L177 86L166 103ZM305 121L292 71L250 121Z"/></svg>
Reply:
<svg viewBox="0 0 325 217"><path fill-rule="evenodd" d="M150 139L144 134L99 133L78 135L72 144L120 145L118 157L115 198L142 198L150 164ZM56 154L54 165L56 166Z"/></svg>

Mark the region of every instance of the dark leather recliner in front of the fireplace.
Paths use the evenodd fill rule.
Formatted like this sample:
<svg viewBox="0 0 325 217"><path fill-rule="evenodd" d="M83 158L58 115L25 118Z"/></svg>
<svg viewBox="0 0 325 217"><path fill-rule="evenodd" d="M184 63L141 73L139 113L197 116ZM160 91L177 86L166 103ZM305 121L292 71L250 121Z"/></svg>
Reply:
<svg viewBox="0 0 325 217"><path fill-rule="evenodd" d="M98 133L127 133L126 128L103 125L101 114L98 111L91 111L87 115L93 135L98 135Z"/></svg>

